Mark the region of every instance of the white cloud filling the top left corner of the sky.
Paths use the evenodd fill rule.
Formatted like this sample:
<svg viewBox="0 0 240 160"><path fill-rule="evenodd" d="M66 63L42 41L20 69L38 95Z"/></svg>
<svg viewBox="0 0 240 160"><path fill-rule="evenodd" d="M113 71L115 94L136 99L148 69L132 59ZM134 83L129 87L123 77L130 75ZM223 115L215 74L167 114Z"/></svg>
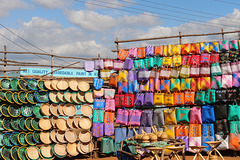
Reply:
<svg viewBox="0 0 240 160"><path fill-rule="evenodd" d="M0 17L9 15L11 10L27 8L28 4L23 0L1 0L0 4Z"/></svg>

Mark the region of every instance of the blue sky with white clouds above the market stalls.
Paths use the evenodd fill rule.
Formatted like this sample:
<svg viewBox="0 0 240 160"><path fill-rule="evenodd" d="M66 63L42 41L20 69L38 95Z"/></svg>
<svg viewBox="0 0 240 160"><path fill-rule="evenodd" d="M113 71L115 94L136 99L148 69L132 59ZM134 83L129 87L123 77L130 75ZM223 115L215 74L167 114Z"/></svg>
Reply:
<svg viewBox="0 0 240 160"><path fill-rule="evenodd" d="M240 2L234 0L1 1L1 24L42 50L48 53L53 50L58 55L96 57L100 53L102 57L114 57L111 49L115 49L116 37L123 40L240 28ZM0 28L0 33L27 50L41 52L4 28ZM226 38L234 39L237 35ZM220 40L220 37L186 38L184 42L209 40ZM178 40L129 43L120 47L170 43ZM11 51L24 50L0 35L1 48L2 45Z"/></svg>

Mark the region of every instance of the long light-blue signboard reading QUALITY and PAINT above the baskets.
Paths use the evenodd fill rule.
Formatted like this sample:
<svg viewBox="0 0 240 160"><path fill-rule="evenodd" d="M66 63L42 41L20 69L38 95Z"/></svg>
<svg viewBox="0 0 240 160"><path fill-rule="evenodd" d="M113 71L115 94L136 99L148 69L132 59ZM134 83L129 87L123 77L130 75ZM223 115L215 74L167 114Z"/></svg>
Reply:
<svg viewBox="0 0 240 160"><path fill-rule="evenodd" d="M22 67L21 69L26 69L25 71L21 71L21 76L26 75L38 75L42 76L49 72L51 72L51 69L48 68L25 68ZM47 75L50 76L51 74ZM98 71L95 70L93 72L86 72L83 69L62 69L56 72L53 72L54 77L98 77Z"/></svg>

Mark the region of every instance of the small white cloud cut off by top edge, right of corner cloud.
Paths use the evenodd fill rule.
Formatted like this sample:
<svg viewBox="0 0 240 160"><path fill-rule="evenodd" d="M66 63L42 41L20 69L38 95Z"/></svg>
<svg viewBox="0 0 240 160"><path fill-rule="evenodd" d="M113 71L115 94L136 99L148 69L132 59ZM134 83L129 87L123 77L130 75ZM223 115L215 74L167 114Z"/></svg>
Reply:
<svg viewBox="0 0 240 160"><path fill-rule="evenodd" d="M65 8L66 6L69 6L71 4L69 0L32 0L32 1L48 9Z"/></svg>

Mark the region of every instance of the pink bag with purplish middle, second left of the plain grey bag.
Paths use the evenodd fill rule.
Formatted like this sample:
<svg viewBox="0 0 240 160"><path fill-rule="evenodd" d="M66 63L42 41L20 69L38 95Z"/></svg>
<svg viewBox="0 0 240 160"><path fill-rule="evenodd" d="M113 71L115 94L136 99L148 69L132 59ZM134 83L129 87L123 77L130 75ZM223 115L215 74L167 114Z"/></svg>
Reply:
<svg viewBox="0 0 240 160"><path fill-rule="evenodd" d="M128 125L140 126L142 111L141 110L129 110Z"/></svg>

